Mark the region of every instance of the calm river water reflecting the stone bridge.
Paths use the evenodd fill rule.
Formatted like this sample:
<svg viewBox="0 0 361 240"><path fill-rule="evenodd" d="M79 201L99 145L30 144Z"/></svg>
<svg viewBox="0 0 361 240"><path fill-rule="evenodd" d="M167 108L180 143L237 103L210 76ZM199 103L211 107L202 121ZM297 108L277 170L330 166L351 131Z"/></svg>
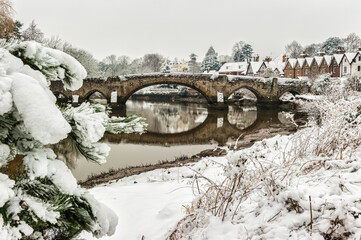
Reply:
<svg viewBox="0 0 361 240"><path fill-rule="evenodd" d="M145 117L147 133L105 134L102 141L111 147L107 163L99 165L79 158L68 163L78 180L111 169L173 161L216 146L227 146L245 133L275 124L282 126L283 122L287 125L284 112L256 107L229 106L228 111L212 111L206 104L129 100L126 114Z"/></svg>

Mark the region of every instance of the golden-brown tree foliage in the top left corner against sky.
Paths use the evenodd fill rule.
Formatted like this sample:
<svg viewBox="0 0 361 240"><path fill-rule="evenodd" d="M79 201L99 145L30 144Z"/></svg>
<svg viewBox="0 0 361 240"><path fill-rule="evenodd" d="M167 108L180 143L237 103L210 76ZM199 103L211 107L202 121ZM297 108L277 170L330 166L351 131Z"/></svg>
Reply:
<svg viewBox="0 0 361 240"><path fill-rule="evenodd" d="M0 0L0 38L11 38L16 28L10 0Z"/></svg>

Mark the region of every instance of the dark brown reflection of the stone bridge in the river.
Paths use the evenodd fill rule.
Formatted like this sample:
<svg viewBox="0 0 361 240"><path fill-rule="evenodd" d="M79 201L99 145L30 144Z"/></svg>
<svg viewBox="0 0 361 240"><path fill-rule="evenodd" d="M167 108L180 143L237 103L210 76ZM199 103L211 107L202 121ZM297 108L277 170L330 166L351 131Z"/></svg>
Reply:
<svg viewBox="0 0 361 240"><path fill-rule="evenodd" d="M237 139L271 125L281 124L276 111L257 111L257 117L244 129L239 129L228 121L227 111L209 111L205 121L197 127L180 133L105 134L102 141L109 143L133 143L147 145L197 145L216 141L225 145L230 139Z"/></svg>

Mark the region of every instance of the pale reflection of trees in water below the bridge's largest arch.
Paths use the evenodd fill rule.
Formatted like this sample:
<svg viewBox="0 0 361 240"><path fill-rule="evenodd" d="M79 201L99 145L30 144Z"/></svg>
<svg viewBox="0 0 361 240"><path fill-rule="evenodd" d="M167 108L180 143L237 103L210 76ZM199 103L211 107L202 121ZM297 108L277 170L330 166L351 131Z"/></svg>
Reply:
<svg viewBox="0 0 361 240"><path fill-rule="evenodd" d="M204 122L208 110L202 104L155 103L132 101L126 103L127 115L140 114L146 118L147 131L153 133L180 133Z"/></svg>

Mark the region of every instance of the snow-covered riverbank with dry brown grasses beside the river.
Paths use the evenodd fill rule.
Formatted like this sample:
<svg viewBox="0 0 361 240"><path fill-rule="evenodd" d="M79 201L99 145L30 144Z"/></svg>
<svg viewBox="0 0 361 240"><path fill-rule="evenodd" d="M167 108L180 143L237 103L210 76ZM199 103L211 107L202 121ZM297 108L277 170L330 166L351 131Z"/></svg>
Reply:
<svg viewBox="0 0 361 240"><path fill-rule="evenodd" d="M293 135L91 189L119 217L103 239L359 239L358 99L315 102L322 124Z"/></svg>

